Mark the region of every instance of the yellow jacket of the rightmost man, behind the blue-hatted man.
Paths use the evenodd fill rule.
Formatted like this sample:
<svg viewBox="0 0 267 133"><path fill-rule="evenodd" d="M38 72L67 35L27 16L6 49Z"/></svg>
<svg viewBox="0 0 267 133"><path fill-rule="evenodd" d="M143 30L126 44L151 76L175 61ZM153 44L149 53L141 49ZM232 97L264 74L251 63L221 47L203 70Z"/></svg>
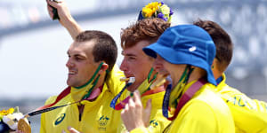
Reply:
<svg viewBox="0 0 267 133"><path fill-rule="evenodd" d="M263 101L248 98L229 86L220 91L231 109L238 132L264 132L267 130L267 105Z"/></svg>

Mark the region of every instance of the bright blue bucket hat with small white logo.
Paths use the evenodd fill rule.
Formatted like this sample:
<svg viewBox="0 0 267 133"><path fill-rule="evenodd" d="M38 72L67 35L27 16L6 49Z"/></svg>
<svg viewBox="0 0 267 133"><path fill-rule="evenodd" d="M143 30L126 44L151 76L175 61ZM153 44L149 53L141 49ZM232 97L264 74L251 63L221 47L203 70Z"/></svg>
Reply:
<svg viewBox="0 0 267 133"><path fill-rule="evenodd" d="M147 55L157 58L157 53L172 64L187 64L206 70L207 82L216 85L211 70L215 57L215 45L208 33L194 25L169 27L157 43L142 49Z"/></svg>

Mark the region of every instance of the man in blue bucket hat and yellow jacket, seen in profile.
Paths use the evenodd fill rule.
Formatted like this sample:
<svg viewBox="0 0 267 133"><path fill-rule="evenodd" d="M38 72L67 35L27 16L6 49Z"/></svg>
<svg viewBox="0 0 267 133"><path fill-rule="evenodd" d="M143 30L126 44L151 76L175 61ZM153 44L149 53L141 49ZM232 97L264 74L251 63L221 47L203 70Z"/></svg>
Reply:
<svg viewBox="0 0 267 133"><path fill-rule="evenodd" d="M200 27L170 27L143 51L171 74L163 113L173 121L166 132L234 132L228 106L214 93L212 38ZM171 116L167 110L170 109Z"/></svg>

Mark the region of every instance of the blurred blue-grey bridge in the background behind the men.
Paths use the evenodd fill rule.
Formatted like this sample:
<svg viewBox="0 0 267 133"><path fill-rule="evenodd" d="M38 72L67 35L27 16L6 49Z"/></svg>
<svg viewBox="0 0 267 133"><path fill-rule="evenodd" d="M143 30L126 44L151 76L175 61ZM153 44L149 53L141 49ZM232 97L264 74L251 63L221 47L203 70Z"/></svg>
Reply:
<svg viewBox="0 0 267 133"><path fill-rule="evenodd" d="M137 0L87 2L67 0L77 21L137 14L137 9L142 9L142 6L148 3ZM182 19L189 23L201 18L214 20L224 27L235 44L235 54L227 71L228 81L250 95L267 93L266 0L244 0L242 3L239 0L165 0L165 3L174 12L182 14ZM39 0L21 0L14 3L3 0L0 2L0 15L0 39L6 35L57 24L48 18L45 1Z"/></svg>

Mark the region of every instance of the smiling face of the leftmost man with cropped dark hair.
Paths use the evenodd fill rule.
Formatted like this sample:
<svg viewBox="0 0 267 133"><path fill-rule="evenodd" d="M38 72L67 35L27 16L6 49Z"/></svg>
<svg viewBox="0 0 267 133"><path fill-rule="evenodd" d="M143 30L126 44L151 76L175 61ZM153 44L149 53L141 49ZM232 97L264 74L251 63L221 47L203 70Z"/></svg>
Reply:
<svg viewBox="0 0 267 133"><path fill-rule="evenodd" d="M93 60L93 41L74 42L70 45L69 59L66 66L69 69L67 84L79 87L88 82L100 63Z"/></svg>

